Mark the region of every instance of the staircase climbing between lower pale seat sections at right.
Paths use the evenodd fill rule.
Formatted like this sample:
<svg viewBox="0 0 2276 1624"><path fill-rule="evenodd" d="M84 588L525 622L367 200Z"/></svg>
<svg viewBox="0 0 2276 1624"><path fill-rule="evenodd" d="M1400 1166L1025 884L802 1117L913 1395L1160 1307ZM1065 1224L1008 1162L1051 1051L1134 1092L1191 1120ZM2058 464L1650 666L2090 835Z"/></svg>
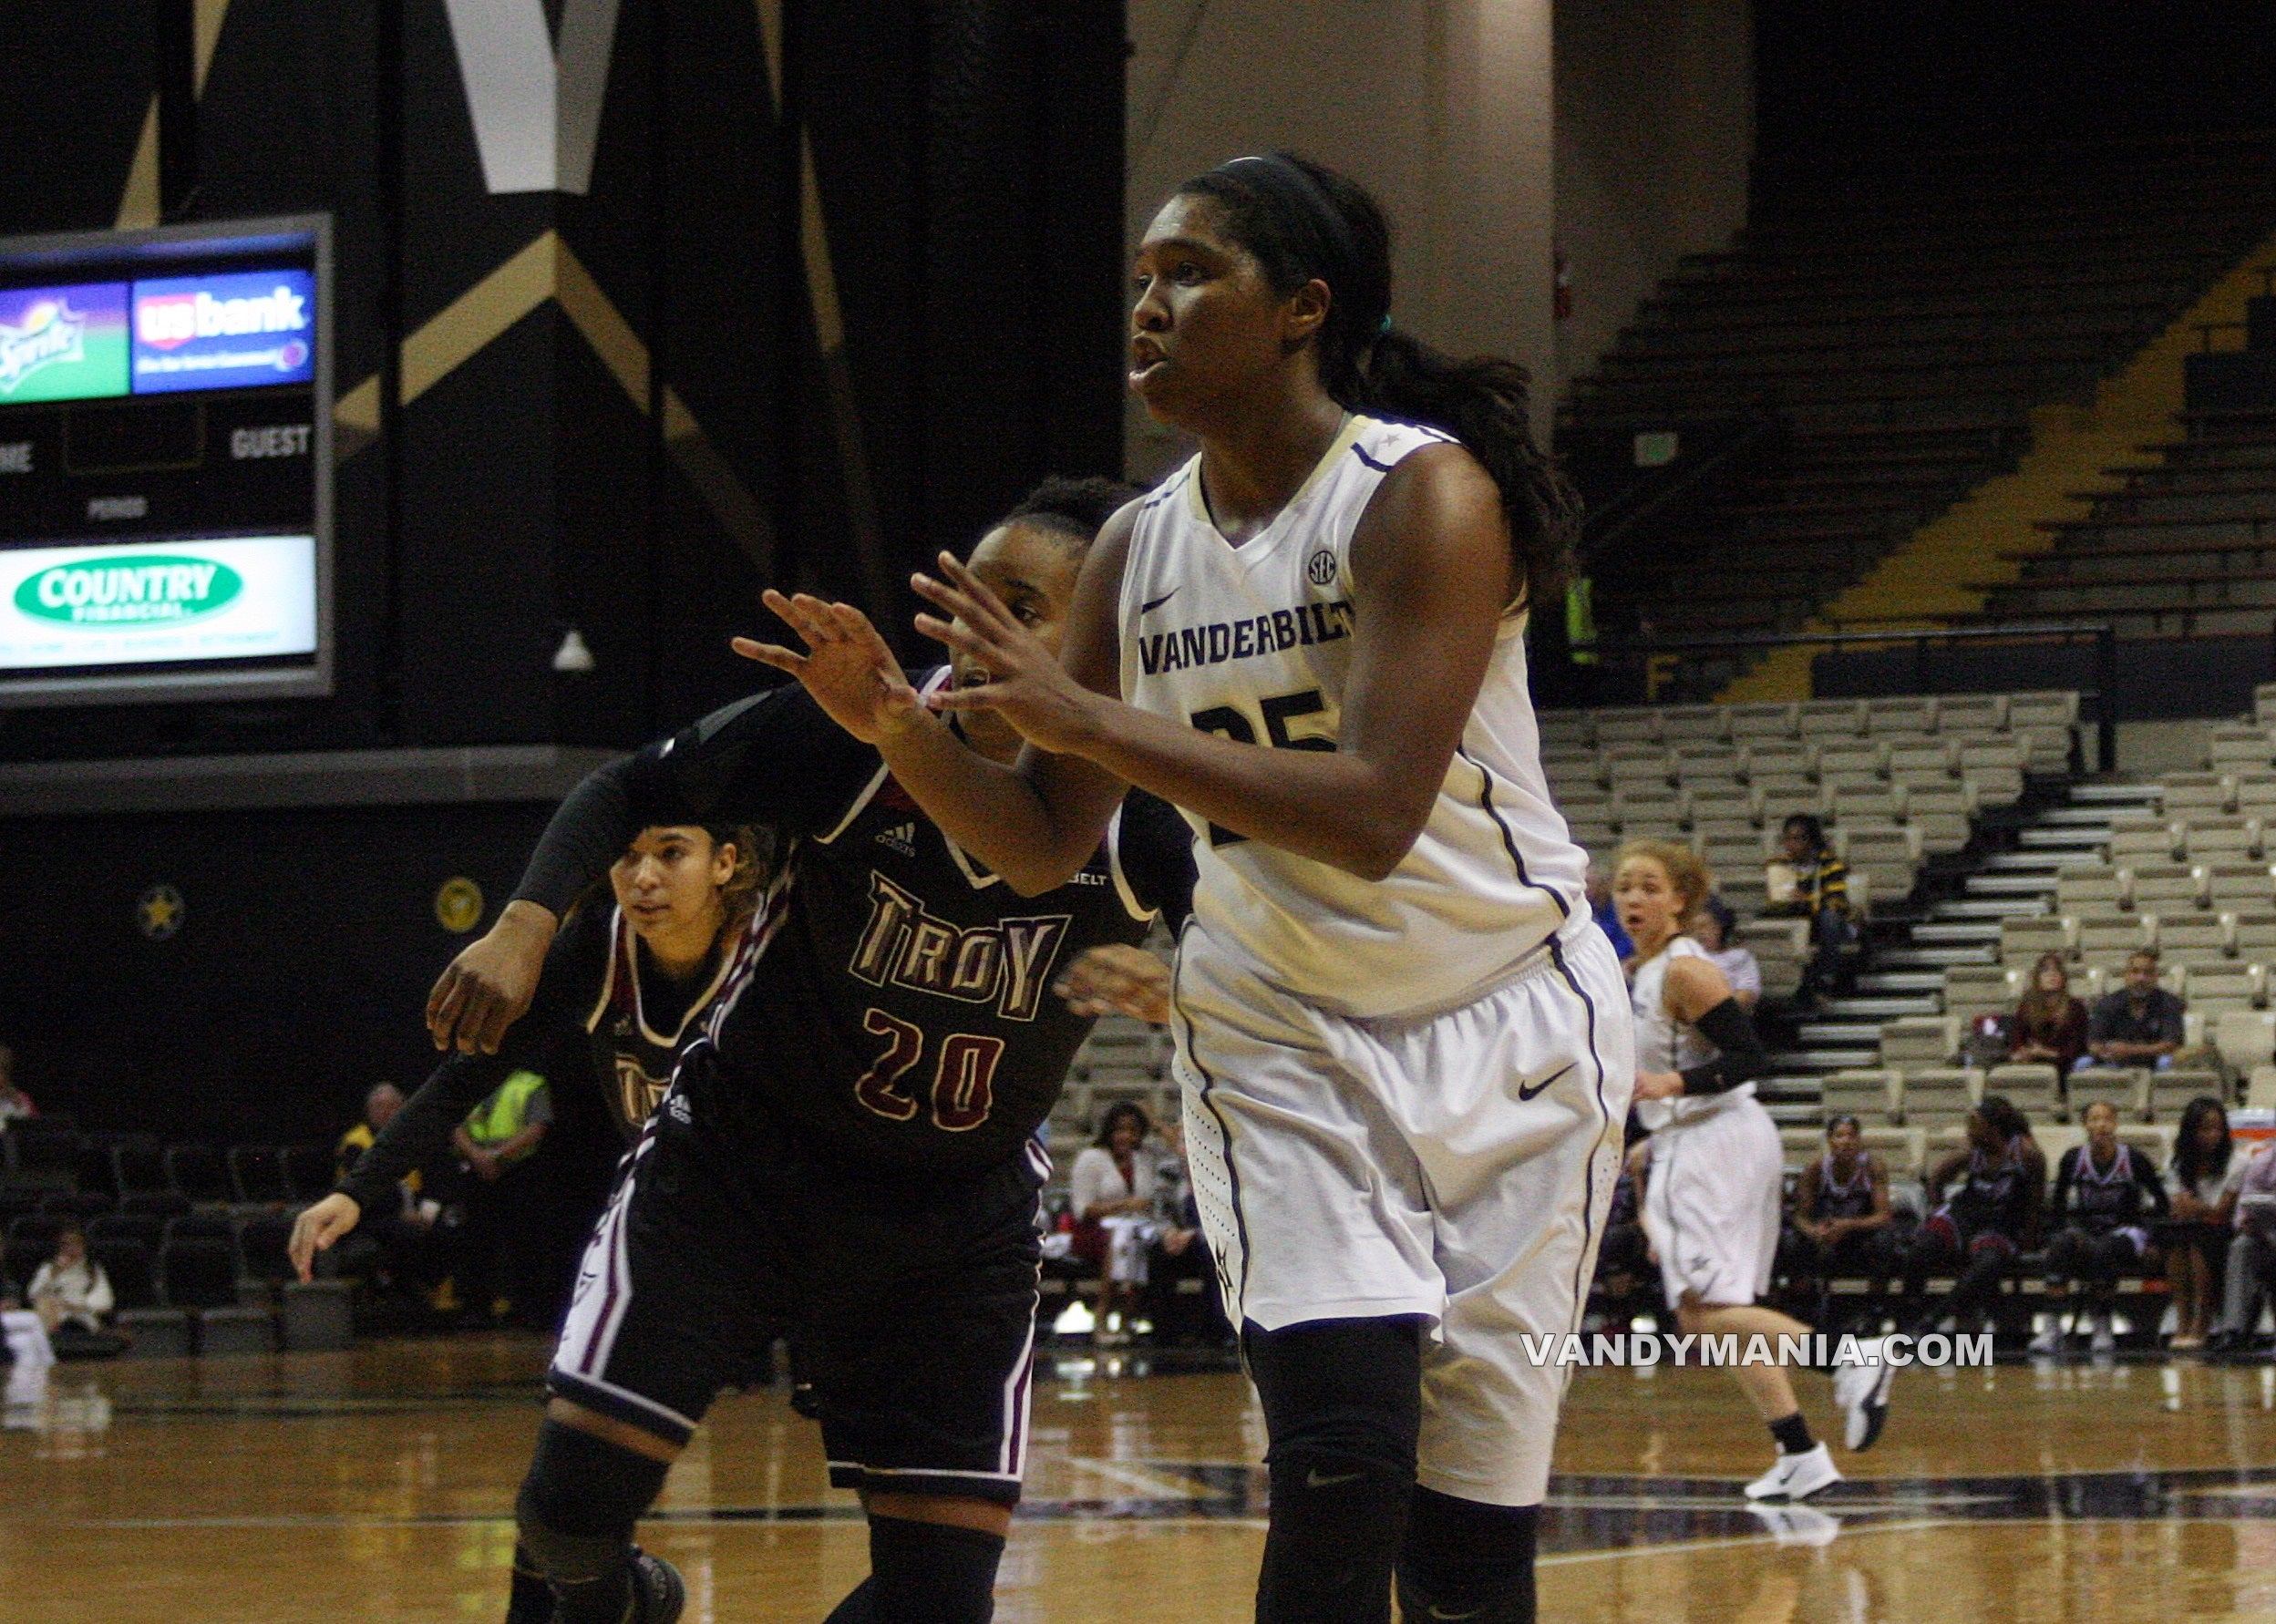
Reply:
<svg viewBox="0 0 2276 1624"><path fill-rule="evenodd" d="M1800 1021L1796 1046L1773 1053L1773 1076L1762 1087L1771 1115L1782 1126L1814 1124L1825 1074L1882 1064L1885 1021L1941 1014L1946 969L1998 964L2001 919L2048 912L2067 867L2103 862L2112 819L2155 805L2155 785L2080 780L2058 787L2007 837L1941 876L1939 889L1948 896L1925 903L1919 917L1875 921L1871 967L1855 989L1828 999Z"/></svg>

